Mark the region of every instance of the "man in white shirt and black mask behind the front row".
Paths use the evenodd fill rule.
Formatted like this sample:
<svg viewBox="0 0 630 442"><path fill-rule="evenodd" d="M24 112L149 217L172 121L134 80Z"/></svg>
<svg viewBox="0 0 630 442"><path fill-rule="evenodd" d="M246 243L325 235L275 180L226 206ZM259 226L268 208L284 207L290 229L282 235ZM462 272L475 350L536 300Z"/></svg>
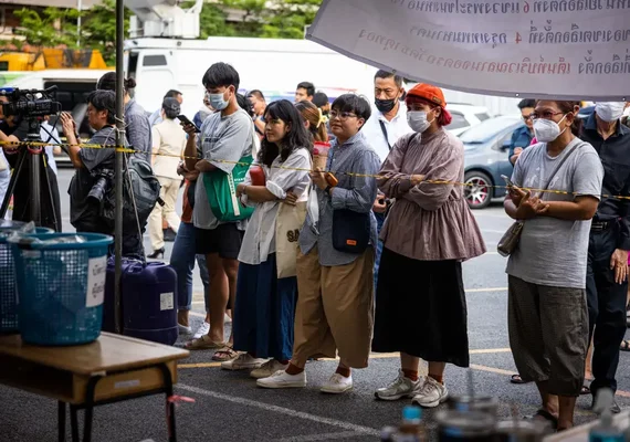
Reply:
<svg viewBox="0 0 630 442"><path fill-rule="evenodd" d="M401 98L405 95L402 77L387 71L378 71L374 76L375 108L371 116L363 127L361 131L368 139L369 145L380 157L381 164L400 137L411 133L407 123L407 106ZM378 232L385 222L387 214L387 201L379 194L372 207L376 215ZM376 248L376 260L374 265L374 285L378 281L378 267L380 264L380 253L382 243L379 241Z"/></svg>

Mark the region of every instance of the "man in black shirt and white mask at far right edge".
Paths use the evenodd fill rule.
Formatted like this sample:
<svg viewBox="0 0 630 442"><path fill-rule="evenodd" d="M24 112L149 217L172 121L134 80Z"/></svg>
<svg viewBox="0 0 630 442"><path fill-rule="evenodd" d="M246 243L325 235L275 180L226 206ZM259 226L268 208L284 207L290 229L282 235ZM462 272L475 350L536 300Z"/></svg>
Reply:
<svg viewBox="0 0 630 442"><path fill-rule="evenodd" d="M630 196L630 129L621 124L622 114L623 103L597 103L580 136L599 154L605 170L601 191L608 196ZM630 200L602 197L590 230L586 282L594 338L594 398L600 388L617 390L619 346L626 334L629 250ZM612 411L620 411L617 403Z"/></svg>

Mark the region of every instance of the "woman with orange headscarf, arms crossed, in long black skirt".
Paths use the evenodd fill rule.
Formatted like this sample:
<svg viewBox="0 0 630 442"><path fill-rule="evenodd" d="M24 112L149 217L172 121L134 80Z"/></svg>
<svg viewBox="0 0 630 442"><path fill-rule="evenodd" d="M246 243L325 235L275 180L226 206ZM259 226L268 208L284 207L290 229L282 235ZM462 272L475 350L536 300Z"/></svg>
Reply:
<svg viewBox="0 0 630 442"><path fill-rule="evenodd" d="M455 185L464 178L464 147L444 129L451 115L442 91L418 84L406 102L413 133L396 143L377 180L396 202L380 233L372 341L374 351L400 351L401 370L376 397L432 408L449 397L447 362L469 366L462 261L485 245ZM411 276L420 284L410 287ZM420 358L429 361L427 379L418 378Z"/></svg>

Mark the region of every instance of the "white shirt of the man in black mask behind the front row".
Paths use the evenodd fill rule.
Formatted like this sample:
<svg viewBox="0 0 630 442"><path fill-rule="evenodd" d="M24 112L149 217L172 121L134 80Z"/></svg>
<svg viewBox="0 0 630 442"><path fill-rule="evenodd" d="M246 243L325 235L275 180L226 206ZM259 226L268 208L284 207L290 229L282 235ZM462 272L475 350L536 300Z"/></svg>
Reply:
<svg viewBox="0 0 630 442"><path fill-rule="evenodd" d="M389 139L389 146L391 147L393 147L400 137L413 130L411 130L407 123L407 105L403 102L399 103L398 114L391 118L391 122L388 122L382 115L382 112L372 106L371 116L361 131L366 136L368 144L380 157L380 162L384 162L389 155L389 146L387 144L388 140L385 139L379 122L385 124L387 138Z"/></svg>

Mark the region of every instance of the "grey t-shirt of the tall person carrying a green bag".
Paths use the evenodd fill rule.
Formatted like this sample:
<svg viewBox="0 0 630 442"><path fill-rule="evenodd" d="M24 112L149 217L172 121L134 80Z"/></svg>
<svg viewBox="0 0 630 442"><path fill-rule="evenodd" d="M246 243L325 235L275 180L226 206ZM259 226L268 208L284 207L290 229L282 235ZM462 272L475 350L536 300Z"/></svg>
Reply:
<svg viewBox="0 0 630 442"><path fill-rule="evenodd" d="M253 145L252 118L241 108L235 113L222 116L220 112L206 118L197 136L197 150L200 158L208 160L225 173L231 173L233 162L218 160L239 161L242 157L252 154ZM217 229L221 222L214 217L208 202L203 175L199 176L195 188L195 207L192 209L192 222L199 229ZM246 220L237 222L240 230L245 230Z"/></svg>

